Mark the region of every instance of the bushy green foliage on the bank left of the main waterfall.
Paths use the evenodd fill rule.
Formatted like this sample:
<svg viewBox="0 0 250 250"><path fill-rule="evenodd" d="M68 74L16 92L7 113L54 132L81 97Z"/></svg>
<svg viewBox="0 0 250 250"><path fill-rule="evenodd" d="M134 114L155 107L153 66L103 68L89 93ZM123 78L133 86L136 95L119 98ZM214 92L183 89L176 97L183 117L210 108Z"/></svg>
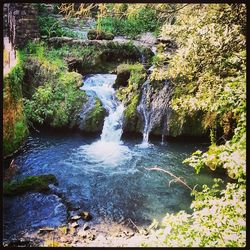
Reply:
<svg viewBox="0 0 250 250"><path fill-rule="evenodd" d="M76 72L68 72L65 63L59 57L58 51L48 51L44 44L30 44L28 49L31 58L39 60L40 67L53 70L51 75L47 71L39 70L37 79L41 79L39 86L31 99L24 99L25 113L30 122L52 127L66 126L76 115L85 100L85 93L79 87L82 77ZM46 56L45 56L46 55ZM39 74L46 74L41 77Z"/></svg>

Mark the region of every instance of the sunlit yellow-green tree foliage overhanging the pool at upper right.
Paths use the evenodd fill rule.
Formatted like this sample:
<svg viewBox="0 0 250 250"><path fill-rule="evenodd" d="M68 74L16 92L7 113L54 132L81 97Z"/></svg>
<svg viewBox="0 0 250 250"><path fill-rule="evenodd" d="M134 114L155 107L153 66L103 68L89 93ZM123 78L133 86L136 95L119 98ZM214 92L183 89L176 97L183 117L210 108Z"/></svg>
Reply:
<svg viewBox="0 0 250 250"><path fill-rule="evenodd" d="M174 25L163 25L161 32L162 38L174 39L178 49L170 58L157 55L161 64L169 62L168 69L156 63L151 76L175 84L174 110L183 117L203 111L204 127L217 132L222 127L228 138L245 109L245 11L244 5L227 4L183 8Z"/></svg>

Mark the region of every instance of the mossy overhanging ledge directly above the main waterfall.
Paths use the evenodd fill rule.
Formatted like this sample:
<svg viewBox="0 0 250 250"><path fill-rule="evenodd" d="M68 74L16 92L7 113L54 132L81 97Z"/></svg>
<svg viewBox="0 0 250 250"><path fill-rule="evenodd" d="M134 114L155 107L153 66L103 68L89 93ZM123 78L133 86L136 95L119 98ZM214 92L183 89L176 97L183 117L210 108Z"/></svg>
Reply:
<svg viewBox="0 0 250 250"><path fill-rule="evenodd" d="M118 64L141 60L139 49L132 43L94 42L88 45L75 44L74 41L65 45L62 41L52 43L50 54L65 59L70 71L81 74L113 72ZM70 51L70 53L69 53Z"/></svg>

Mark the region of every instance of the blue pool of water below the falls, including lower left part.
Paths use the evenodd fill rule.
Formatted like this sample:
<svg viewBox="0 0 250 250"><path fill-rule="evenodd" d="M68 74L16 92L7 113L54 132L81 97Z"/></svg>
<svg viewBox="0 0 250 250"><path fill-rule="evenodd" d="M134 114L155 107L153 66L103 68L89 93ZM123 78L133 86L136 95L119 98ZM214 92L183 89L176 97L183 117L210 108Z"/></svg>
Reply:
<svg viewBox="0 0 250 250"><path fill-rule="evenodd" d="M216 176L194 170L182 160L205 144L189 142L152 142L141 146L141 139L119 143L80 134L33 134L15 158L19 171L15 179L29 175L54 174L58 191L75 208L93 215L93 223L125 223L128 218L137 225L160 220L167 212L190 211L190 190L171 183L170 176L145 167L159 166L183 177L186 183L211 184ZM18 209L17 209L18 208ZM4 198L4 235L40 226L58 226L66 222L66 207L55 195L25 194Z"/></svg>

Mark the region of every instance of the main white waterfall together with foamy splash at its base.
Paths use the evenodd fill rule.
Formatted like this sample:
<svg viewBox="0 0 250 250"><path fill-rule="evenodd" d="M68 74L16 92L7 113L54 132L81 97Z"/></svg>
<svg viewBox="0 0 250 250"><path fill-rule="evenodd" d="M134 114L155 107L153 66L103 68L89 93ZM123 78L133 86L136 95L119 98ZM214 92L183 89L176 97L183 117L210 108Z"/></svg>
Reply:
<svg viewBox="0 0 250 250"><path fill-rule="evenodd" d="M101 140L82 148L92 160L104 163L116 163L127 151L127 147L121 145L124 106L115 97L115 90L112 87L115 79L114 74L89 75L84 78L84 85L81 87L88 95L97 96L108 112Z"/></svg>

